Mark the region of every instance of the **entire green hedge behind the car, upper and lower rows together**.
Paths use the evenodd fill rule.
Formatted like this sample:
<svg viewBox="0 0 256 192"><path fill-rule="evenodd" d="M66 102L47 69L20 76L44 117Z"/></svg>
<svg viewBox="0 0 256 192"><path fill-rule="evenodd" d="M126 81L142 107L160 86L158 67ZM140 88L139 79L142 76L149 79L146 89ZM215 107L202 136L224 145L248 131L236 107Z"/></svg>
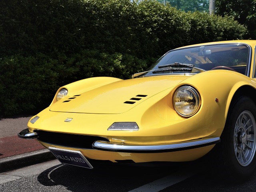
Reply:
<svg viewBox="0 0 256 192"><path fill-rule="evenodd" d="M0 8L0 115L41 110L75 80L130 78L170 49L247 33L232 18L154 0L1 0Z"/></svg>

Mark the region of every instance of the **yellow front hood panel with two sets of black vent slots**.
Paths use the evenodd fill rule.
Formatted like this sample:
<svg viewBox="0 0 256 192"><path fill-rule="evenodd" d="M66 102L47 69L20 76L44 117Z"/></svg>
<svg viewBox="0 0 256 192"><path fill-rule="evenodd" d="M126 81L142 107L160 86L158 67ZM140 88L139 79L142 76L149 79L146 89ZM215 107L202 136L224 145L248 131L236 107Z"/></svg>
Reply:
<svg viewBox="0 0 256 192"><path fill-rule="evenodd" d="M176 86L189 76L151 76L110 83L81 93L68 95L50 107L54 112L93 114L124 113L148 98Z"/></svg>

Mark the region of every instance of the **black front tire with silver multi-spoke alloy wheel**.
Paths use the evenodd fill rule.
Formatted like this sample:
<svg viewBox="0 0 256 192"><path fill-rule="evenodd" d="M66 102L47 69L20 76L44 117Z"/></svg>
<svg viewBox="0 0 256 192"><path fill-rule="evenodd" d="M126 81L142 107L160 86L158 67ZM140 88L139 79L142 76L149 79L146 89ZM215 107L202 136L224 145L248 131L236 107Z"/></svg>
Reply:
<svg viewBox="0 0 256 192"><path fill-rule="evenodd" d="M219 163L230 180L245 180L256 170L255 119L256 105L252 99L243 96L233 102L219 145Z"/></svg>

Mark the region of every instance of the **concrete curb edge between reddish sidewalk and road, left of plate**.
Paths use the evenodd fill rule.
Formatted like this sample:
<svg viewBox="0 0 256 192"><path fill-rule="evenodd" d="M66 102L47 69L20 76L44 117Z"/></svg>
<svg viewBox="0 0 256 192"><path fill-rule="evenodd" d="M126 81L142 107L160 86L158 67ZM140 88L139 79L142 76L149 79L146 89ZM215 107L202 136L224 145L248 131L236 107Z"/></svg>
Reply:
<svg viewBox="0 0 256 192"><path fill-rule="evenodd" d="M38 150L0 159L0 173L56 159L48 150Z"/></svg>

